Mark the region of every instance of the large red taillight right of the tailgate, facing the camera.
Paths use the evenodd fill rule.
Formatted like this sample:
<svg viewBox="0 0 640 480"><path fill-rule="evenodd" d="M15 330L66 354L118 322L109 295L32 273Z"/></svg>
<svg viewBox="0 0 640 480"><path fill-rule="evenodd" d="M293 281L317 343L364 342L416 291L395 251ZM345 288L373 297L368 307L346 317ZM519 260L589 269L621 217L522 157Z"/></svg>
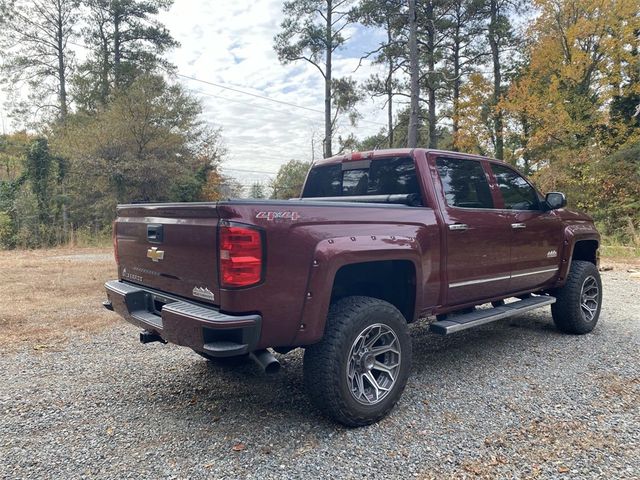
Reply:
<svg viewBox="0 0 640 480"><path fill-rule="evenodd" d="M262 235L259 230L221 225L220 286L237 288L262 280Z"/></svg>

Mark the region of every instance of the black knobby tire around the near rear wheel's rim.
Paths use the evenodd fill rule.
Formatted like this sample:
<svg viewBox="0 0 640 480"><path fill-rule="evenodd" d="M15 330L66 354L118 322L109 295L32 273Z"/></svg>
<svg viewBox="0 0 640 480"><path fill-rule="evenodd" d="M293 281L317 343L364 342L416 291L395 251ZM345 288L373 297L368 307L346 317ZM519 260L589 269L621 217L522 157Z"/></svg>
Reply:
<svg viewBox="0 0 640 480"><path fill-rule="evenodd" d="M388 393L378 403L365 405L351 393L348 367L354 342L368 328L380 328L377 325L395 334L400 360ZM304 353L304 384L311 402L349 427L369 425L385 417L402 395L410 370L411 337L404 316L390 303L370 297L345 297L332 304L323 339Z"/></svg>

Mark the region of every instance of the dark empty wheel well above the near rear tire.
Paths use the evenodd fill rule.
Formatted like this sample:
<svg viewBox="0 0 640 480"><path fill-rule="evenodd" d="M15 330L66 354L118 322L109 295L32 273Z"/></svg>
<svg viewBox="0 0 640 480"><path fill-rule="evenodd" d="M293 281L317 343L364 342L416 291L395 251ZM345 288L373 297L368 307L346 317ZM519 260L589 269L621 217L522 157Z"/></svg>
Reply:
<svg viewBox="0 0 640 480"><path fill-rule="evenodd" d="M354 263L336 273L331 302L352 295L379 298L395 306L413 321L416 300L416 270L409 260Z"/></svg>

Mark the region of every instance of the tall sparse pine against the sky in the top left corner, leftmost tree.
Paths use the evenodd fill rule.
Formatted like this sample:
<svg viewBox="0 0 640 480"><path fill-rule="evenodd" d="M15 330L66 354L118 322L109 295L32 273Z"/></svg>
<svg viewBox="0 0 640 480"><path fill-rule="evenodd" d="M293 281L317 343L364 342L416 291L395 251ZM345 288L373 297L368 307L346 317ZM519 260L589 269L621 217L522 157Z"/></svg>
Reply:
<svg viewBox="0 0 640 480"><path fill-rule="evenodd" d="M76 36L78 0L0 0L2 72L14 94L27 87L21 112L55 112L62 121L69 111L68 79L74 55L69 41ZM55 101L52 101L55 97Z"/></svg>

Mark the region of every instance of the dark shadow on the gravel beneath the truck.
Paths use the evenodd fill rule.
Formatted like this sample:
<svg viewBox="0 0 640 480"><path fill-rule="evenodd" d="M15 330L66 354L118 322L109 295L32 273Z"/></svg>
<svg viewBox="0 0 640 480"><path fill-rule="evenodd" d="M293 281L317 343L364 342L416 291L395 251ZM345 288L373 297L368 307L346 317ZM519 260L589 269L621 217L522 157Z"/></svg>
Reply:
<svg viewBox="0 0 640 480"><path fill-rule="evenodd" d="M456 382L462 384L477 382L478 370L494 368L499 375L507 375L514 351L535 351L566 338L540 316L498 322L449 337L430 334L427 323L419 322L411 326L411 335L414 356L409 387L432 384L446 372L455 372ZM146 374L154 382L140 382L141 388L125 401L145 405L151 416L173 416L175 422L204 425L217 434L233 435L237 422L283 431L301 423L311 423L316 431L341 429L308 401L302 385L301 349L278 355L282 369L271 376L248 358L224 366L194 354L192 360L170 364L174 354L167 352L167 363L151 366Z"/></svg>

